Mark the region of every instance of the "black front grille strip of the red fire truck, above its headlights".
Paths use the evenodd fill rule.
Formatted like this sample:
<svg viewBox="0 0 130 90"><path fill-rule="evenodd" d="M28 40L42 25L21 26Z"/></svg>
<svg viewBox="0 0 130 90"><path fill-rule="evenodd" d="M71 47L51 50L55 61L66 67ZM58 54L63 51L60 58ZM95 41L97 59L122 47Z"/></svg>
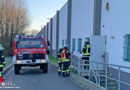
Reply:
<svg viewBox="0 0 130 90"><path fill-rule="evenodd" d="M23 54L22 57L18 56L18 59L22 59L22 60L27 60L27 59L32 59L32 58L36 58L36 59L45 59L45 55L44 54Z"/></svg>

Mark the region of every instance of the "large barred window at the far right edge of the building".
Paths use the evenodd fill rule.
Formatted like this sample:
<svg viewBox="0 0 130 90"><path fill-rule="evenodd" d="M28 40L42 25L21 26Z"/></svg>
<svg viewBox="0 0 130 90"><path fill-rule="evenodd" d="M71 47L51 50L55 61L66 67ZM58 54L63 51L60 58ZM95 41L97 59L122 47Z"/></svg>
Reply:
<svg viewBox="0 0 130 90"><path fill-rule="evenodd" d="M130 34L125 36L124 60L130 61Z"/></svg>

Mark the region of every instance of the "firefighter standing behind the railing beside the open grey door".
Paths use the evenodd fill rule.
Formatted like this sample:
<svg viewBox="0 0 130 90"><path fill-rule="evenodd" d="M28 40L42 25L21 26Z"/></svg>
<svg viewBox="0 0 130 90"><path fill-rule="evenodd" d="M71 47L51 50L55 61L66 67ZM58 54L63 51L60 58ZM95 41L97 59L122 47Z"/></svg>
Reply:
<svg viewBox="0 0 130 90"><path fill-rule="evenodd" d="M87 60L87 61L85 61L85 64L89 64L90 40L88 38L85 40L85 44L84 44L82 53L83 53L82 59ZM84 66L84 69L87 69L86 65ZM89 66L88 66L88 69L89 69Z"/></svg>

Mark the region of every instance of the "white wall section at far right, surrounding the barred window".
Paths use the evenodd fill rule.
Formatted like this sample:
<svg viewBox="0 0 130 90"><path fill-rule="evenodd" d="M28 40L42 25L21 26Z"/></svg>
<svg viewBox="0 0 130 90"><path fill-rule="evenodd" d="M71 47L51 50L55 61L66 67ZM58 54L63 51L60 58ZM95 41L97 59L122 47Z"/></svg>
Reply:
<svg viewBox="0 0 130 90"><path fill-rule="evenodd" d="M106 2L109 2L109 11L106 10ZM130 62L123 60L124 36L130 34L129 3L130 0L103 0L102 3L101 34L107 35L109 64L130 66Z"/></svg>

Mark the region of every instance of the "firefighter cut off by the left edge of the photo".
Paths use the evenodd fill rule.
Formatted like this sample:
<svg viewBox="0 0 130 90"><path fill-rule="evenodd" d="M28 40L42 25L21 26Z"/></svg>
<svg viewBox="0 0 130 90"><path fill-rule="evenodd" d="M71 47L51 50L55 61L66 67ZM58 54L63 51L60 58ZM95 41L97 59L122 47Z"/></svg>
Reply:
<svg viewBox="0 0 130 90"><path fill-rule="evenodd" d="M4 48L0 44L0 82L1 82L1 84L4 83L4 79L3 79L3 76L2 76L2 71L3 71L3 68L5 66L5 58L4 58L4 55L3 55L3 49Z"/></svg>

